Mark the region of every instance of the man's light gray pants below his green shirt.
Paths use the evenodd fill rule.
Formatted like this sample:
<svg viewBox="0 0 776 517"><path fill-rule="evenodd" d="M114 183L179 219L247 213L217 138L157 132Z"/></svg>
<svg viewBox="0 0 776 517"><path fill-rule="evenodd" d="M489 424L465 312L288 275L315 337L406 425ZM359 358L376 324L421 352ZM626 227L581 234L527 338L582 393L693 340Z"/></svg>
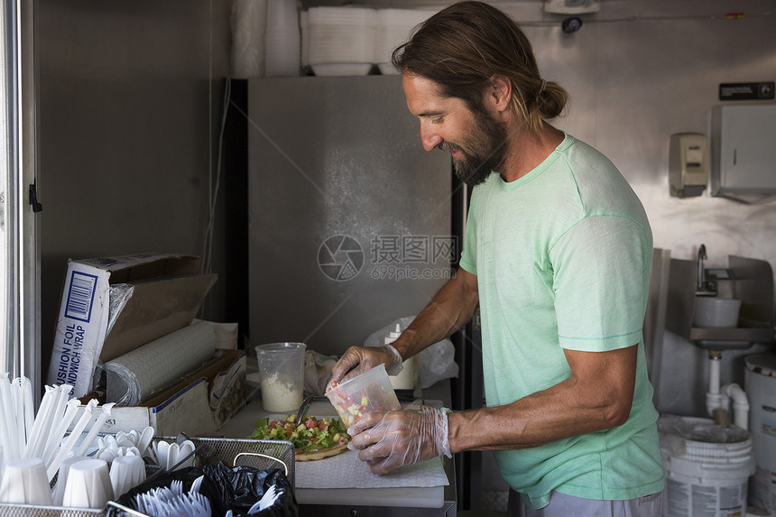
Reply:
<svg viewBox="0 0 776 517"><path fill-rule="evenodd" d="M550 504L532 510L520 494L509 491L508 517L661 517L663 493L627 501L595 501L552 491Z"/></svg>

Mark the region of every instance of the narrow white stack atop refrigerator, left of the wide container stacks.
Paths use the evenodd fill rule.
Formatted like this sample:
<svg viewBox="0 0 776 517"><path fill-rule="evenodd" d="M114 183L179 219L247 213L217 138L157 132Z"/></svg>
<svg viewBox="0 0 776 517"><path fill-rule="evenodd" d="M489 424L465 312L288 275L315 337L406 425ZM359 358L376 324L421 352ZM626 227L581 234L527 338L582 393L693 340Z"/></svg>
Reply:
<svg viewBox="0 0 776 517"><path fill-rule="evenodd" d="M267 76L300 74L300 32L296 0L268 0L264 34Z"/></svg>

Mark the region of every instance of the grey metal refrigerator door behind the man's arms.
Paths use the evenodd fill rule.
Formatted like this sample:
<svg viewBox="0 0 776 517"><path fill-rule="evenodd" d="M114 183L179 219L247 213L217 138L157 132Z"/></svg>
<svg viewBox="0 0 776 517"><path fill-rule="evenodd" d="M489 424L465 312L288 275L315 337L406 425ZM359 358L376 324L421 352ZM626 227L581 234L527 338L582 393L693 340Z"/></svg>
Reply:
<svg viewBox="0 0 776 517"><path fill-rule="evenodd" d="M399 76L248 81L251 345L362 345L448 280L452 167Z"/></svg>

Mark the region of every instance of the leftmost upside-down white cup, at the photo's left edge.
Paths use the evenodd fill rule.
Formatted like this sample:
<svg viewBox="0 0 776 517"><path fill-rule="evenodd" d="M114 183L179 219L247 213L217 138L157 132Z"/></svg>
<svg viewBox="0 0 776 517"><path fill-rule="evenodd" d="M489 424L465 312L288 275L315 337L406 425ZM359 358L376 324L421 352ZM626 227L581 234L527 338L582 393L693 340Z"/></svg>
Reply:
<svg viewBox="0 0 776 517"><path fill-rule="evenodd" d="M23 457L5 465L0 503L51 506L49 477L41 458Z"/></svg>

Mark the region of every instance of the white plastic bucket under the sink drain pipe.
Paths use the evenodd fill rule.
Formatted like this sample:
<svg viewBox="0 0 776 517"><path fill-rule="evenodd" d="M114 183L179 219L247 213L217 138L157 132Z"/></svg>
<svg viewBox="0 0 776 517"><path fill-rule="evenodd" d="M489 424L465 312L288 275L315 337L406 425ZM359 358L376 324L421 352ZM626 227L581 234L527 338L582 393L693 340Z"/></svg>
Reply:
<svg viewBox="0 0 776 517"><path fill-rule="evenodd" d="M738 436L730 443L688 439L674 431L670 419L679 421L682 428L716 428L708 419L665 416L659 420L666 473L663 517L744 516L749 476L754 472L749 433L734 428Z"/></svg>

